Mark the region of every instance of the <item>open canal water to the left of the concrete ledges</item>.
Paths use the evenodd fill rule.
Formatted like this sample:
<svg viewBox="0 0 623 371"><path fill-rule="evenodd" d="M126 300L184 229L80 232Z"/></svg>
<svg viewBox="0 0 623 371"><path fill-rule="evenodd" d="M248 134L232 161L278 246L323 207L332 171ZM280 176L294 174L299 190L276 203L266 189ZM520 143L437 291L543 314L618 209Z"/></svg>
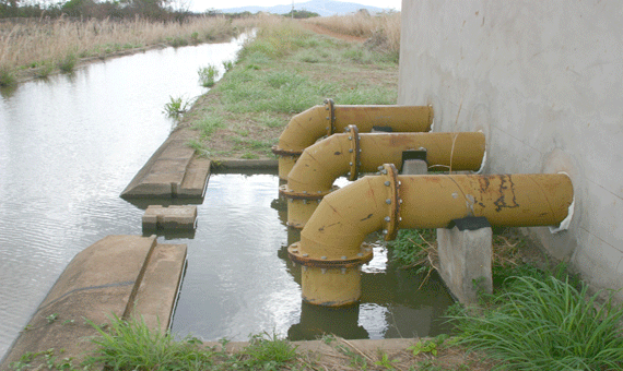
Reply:
<svg viewBox="0 0 623 371"><path fill-rule="evenodd" d="M242 41L242 40L240 40ZM0 89L0 357L79 251L140 235L119 193L168 135L169 96L240 41L152 50ZM223 71L221 71L223 72Z"/></svg>

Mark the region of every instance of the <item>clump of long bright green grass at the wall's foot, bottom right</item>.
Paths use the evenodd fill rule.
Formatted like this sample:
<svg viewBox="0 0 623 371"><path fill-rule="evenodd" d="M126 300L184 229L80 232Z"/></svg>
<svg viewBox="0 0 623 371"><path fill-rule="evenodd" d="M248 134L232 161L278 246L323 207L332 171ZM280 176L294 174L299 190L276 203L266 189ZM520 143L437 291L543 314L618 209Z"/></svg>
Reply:
<svg viewBox="0 0 623 371"><path fill-rule="evenodd" d="M623 306L588 295L569 276L510 277L484 309L459 309L450 319L458 344L482 351L498 370L621 370ZM534 274L537 273L537 274Z"/></svg>

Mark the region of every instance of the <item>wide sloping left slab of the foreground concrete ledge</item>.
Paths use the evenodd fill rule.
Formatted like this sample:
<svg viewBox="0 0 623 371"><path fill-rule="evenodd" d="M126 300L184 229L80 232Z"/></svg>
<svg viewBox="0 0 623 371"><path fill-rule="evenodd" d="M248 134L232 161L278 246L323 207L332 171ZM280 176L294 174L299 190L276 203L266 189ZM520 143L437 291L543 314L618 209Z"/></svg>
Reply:
<svg viewBox="0 0 623 371"><path fill-rule="evenodd" d="M77 254L13 344L1 369L8 369L26 351L50 348L62 348L63 358L80 361L94 348L89 339L96 335L85 320L103 324L109 322L108 315L126 313L155 244L155 237L108 236Z"/></svg>

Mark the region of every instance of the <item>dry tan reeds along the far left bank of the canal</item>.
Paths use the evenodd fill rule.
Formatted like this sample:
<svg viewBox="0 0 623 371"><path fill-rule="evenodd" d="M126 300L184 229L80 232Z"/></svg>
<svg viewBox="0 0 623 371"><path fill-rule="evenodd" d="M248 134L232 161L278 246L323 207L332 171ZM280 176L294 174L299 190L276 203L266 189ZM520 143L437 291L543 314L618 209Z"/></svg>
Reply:
<svg viewBox="0 0 623 371"><path fill-rule="evenodd" d="M0 23L0 86L17 79L71 71L84 58L103 58L158 45L227 40L257 17L188 17L185 22L134 20L27 20Z"/></svg>

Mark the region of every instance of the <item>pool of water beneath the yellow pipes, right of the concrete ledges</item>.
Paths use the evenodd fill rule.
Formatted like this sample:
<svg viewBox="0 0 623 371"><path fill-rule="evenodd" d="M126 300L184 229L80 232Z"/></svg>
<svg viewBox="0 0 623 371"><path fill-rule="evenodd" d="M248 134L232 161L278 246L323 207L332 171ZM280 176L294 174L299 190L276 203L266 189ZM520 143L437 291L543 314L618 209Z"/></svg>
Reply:
<svg viewBox="0 0 623 371"><path fill-rule="evenodd" d="M399 270L375 246L362 268L362 301L344 308L301 300L301 266L287 258L299 230L285 226L285 203L273 175L215 175L199 206L198 229L188 243L188 271L173 332L204 340L246 340L274 331L291 340L324 333L344 338L427 336L445 332L439 316L451 299L438 277ZM369 236L369 242L378 236Z"/></svg>

